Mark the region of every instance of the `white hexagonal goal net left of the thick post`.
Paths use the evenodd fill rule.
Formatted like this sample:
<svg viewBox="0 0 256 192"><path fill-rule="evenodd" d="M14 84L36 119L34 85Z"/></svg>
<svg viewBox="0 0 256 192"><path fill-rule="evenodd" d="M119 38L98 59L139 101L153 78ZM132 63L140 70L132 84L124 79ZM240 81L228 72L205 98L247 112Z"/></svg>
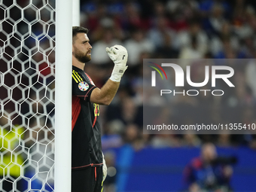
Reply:
<svg viewBox="0 0 256 192"><path fill-rule="evenodd" d="M55 1L0 0L0 191L53 191Z"/></svg>

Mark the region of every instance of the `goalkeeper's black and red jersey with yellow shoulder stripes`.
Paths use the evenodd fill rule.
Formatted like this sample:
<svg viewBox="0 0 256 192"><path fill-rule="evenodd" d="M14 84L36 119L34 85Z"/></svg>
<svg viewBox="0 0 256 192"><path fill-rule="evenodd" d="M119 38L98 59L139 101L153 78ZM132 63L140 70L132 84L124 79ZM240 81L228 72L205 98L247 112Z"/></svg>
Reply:
<svg viewBox="0 0 256 192"><path fill-rule="evenodd" d="M102 166L99 105L90 102L91 78L72 66L72 169Z"/></svg>

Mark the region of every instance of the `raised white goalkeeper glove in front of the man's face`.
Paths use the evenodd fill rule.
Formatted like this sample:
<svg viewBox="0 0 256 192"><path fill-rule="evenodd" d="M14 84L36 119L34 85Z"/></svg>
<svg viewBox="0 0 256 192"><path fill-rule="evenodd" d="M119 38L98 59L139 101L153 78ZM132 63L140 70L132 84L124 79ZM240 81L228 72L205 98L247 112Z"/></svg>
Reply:
<svg viewBox="0 0 256 192"><path fill-rule="evenodd" d="M110 48L106 47L105 50L108 53L109 58L114 62L114 69L111 74L111 81L120 82L123 73L127 69L126 62L128 59L128 53L125 47L121 45L114 45Z"/></svg>

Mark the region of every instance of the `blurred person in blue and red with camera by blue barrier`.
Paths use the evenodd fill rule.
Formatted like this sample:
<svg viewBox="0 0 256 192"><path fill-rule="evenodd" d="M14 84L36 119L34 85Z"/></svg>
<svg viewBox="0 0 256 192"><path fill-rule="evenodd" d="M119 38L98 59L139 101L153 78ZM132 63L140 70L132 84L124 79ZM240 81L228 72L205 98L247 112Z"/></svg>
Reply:
<svg viewBox="0 0 256 192"><path fill-rule="evenodd" d="M230 162L229 162L230 161ZM218 157L215 145L206 143L200 157L195 157L184 169L188 191L232 191L230 178L233 175L232 158Z"/></svg>

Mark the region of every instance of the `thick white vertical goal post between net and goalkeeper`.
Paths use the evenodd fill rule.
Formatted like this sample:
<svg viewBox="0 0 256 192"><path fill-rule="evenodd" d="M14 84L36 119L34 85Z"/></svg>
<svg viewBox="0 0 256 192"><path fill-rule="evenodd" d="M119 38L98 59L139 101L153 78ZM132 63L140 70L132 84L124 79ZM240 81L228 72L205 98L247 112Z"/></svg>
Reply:
<svg viewBox="0 0 256 192"><path fill-rule="evenodd" d="M80 11L78 11L80 12ZM71 191L72 146L72 1L56 0L56 192Z"/></svg>

